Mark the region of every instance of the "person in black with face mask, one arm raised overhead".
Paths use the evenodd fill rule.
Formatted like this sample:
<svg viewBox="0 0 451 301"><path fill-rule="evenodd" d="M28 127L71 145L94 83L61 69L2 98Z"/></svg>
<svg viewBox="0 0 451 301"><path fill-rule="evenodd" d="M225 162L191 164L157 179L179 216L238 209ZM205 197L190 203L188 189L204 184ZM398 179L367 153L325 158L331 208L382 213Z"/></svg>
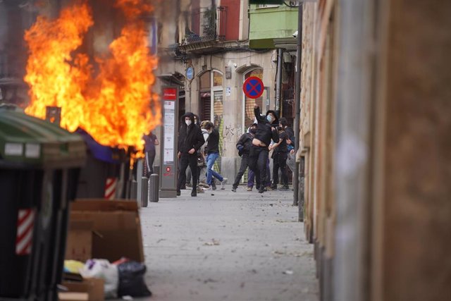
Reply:
<svg viewBox="0 0 451 301"><path fill-rule="evenodd" d="M271 143L279 141L279 134L275 126L278 118L275 111L267 111L266 116L260 115L260 108L254 106L254 115L257 118L257 133L252 140L251 152L249 154L249 168L255 173L255 180L259 186L259 193L264 192L266 178L266 161L268 161L268 147ZM261 185L260 185L261 184Z"/></svg>

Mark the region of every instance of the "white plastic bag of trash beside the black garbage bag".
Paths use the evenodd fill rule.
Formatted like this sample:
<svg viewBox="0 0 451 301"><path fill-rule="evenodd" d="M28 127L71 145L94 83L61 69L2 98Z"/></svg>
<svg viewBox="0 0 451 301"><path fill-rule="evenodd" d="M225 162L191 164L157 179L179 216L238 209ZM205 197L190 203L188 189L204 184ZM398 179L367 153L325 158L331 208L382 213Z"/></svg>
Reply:
<svg viewBox="0 0 451 301"><path fill-rule="evenodd" d="M119 271L118 266L106 259L89 259L80 269L83 278L102 278L105 281L105 298L118 296Z"/></svg>

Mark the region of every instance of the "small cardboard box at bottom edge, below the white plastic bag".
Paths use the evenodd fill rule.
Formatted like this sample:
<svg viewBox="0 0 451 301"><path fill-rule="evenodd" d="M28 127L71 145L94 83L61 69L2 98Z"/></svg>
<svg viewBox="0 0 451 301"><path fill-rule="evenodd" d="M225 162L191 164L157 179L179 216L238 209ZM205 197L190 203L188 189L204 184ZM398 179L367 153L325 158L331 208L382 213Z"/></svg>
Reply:
<svg viewBox="0 0 451 301"><path fill-rule="evenodd" d="M63 281L68 292L58 293L61 301L103 301L105 300L104 280L99 278L85 278L83 282Z"/></svg>

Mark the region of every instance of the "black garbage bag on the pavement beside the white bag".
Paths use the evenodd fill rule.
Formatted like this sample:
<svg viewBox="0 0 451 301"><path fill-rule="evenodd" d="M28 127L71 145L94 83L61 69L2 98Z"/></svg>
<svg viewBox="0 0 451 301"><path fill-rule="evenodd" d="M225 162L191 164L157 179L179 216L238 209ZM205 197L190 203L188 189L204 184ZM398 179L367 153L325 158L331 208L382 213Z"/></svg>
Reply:
<svg viewBox="0 0 451 301"><path fill-rule="evenodd" d="M151 291L144 283L144 274L146 266L140 262L124 262L118 265L119 287L118 295L132 297L149 297Z"/></svg>

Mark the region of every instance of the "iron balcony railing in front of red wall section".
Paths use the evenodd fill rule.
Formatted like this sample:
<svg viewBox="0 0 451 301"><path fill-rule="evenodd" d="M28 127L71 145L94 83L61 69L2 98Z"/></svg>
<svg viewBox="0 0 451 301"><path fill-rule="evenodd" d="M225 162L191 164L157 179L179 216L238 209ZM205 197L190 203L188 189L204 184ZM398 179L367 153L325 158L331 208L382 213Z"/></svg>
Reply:
<svg viewBox="0 0 451 301"><path fill-rule="evenodd" d="M227 8L200 8L191 16L182 44L223 41L226 39Z"/></svg>

